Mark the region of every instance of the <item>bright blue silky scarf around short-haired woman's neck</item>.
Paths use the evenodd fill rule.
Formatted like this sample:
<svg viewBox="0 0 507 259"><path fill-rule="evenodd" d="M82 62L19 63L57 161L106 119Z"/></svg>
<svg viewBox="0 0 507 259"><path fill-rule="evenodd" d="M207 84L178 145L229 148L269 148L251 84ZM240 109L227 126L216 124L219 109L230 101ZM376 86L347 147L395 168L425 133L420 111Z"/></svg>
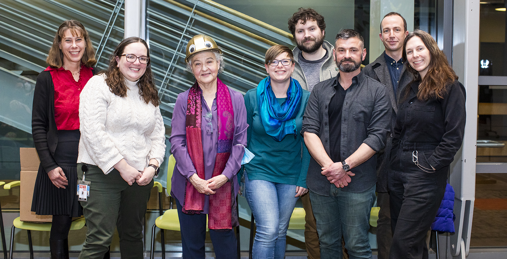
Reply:
<svg viewBox="0 0 507 259"><path fill-rule="evenodd" d="M287 89L287 100L281 105L271 89L271 78L268 76L257 85L257 102L259 115L266 134L280 142L287 134L298 134L296 130L296 115L301 108L302 88L298 80L291 77L291 84Z"/></svg>

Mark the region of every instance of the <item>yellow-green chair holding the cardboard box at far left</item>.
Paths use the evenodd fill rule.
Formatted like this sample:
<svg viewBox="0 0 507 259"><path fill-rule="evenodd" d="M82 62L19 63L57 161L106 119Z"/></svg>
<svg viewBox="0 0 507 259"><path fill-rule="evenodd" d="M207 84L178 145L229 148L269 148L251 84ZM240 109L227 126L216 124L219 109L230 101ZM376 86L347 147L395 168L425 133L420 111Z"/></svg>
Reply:
<svg viewBox="0 0 507 259"><path fill-rule="evenodd" d="M4 185L4 189L10 190L12 187L19 186L20 181L14 181L11 183L8 183ZM1 186L1 185L0 185ZM85 226L85 218L79 218L72 222L70 225L70 230L78 230L82 229ZM28 246L30 248L30 259L33 259L33 247L31 242L31 232L32 230L37 231L51 231L51 223L33 223L33 222L24 222L20 221L19 217L14 219L12 223L12 229L11 229L11 244L10 244L10 252L9 252L9 258L12 259L12 253L14 252L14 231L15 229L25 229L28 232ZM5 249L4 249L5 251Z"/></svg>

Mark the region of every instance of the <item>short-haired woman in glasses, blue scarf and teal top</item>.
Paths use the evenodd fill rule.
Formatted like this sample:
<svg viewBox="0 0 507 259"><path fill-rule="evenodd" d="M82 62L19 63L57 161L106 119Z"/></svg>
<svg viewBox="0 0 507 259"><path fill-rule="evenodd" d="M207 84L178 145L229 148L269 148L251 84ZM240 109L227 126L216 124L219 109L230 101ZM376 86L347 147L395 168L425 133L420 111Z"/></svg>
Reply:
<svg viewBox="0 0 507 259"><path fill-rule="evenodd" d="M300 134L310 92L291 77L291 49L268 49L266 72L256 89L246 92L248 150L245 197L257 223L253 258L283 258L288 222L299 196L308 192L310 154Z"/></svg>

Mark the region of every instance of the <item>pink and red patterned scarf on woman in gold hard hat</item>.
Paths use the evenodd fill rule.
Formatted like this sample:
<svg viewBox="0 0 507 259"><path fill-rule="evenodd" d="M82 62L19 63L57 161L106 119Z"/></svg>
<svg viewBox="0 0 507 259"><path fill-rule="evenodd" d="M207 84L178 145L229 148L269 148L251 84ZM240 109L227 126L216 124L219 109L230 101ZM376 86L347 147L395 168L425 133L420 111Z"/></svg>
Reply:
<svg viewBox="0 0 507 259"><path fill-rule="evenodd" d="M215 166L211 177L222 174L231 154L232 139L234 136L234 111L232 108L231 95L227 85L218 78L216 80L216 106L218 111L219 136ZM187 102L187 149L197 171L197 176L207 180L204 176L204 153L201 139L201 95L202 91L199 88L199 84L195 82L190 88ZM216 189L215 194L209 196L209 229L232 229L233 218L237 218L236 207L234 206L234 208L232 208L235 203L233 201L235 195L232 194L232 189L234 189L232 187L232 182L228 181L222 187ZM205 195L199 193L192 183L187 180L183 212L187 214L200 214L204 209L204 201ZM234 212L234 215L231 214L232 212ZM236 217L234 217L235 215ZM236 222L237 219L234 221Z"/></svg>

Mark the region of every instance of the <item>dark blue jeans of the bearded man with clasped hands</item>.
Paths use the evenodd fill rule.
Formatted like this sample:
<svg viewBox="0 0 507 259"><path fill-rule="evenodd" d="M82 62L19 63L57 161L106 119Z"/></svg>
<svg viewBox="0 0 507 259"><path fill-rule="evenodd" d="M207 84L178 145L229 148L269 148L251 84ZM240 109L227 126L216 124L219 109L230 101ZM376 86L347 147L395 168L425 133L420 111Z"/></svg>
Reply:
<svg viewBox="0 0 507 259"><path fill-rule="evenodd" d="M375 189L373 185L364 192L344 192L331 185L329 197L310 190L321 259L343 257L342 236L350 258L372 258L368 230Z"/></svg>

